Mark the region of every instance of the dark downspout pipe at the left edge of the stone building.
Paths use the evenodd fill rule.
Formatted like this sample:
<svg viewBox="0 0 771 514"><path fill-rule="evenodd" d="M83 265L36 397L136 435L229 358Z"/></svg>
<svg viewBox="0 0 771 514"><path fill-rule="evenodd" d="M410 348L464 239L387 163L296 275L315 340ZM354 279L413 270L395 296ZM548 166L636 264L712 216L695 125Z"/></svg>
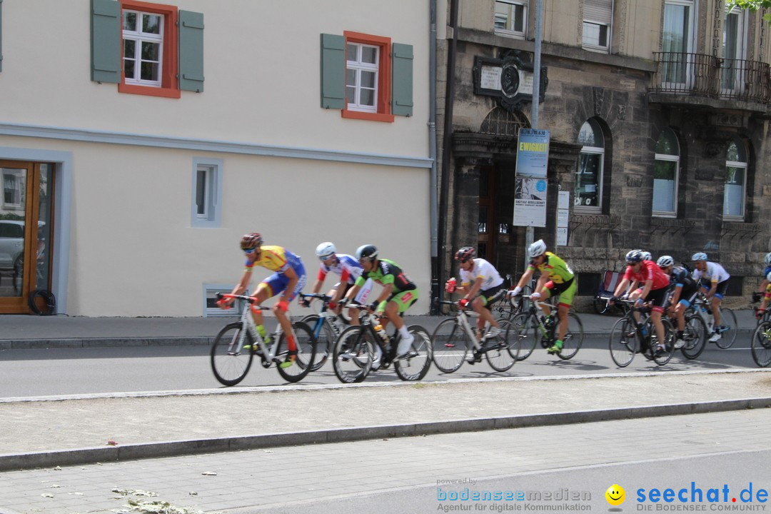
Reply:
<svg viewBox="0 0 771 514"><path fill-rule="evenodd" d="M439 233L438 254L436 257L436 291L434 297L441 297L447 273L444 270L444 257L446 255L447 232L447 204L449 203L449 160L452 154L453 141L453 105L455 103L455 66L458 51L458 0L451 0L449 9L449 26L453 29L453 39L449 41L447 51L447 81L446 95L444 99L444 133L442 137L442 176L441 189L439 191ZM438 311L438 305L434 306Z"/></svg>

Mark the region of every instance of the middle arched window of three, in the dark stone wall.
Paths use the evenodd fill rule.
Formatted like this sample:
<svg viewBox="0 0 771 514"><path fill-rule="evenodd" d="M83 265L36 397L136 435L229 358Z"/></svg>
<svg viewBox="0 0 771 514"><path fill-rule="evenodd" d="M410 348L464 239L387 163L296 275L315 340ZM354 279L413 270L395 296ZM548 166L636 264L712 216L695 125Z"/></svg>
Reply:
<svg viewBox="0 0 771 514"><path fill-rule="evenodd" d="M677 215L680 145L672 129L658 136L653 164L653 214L665 217Z"/></svg>

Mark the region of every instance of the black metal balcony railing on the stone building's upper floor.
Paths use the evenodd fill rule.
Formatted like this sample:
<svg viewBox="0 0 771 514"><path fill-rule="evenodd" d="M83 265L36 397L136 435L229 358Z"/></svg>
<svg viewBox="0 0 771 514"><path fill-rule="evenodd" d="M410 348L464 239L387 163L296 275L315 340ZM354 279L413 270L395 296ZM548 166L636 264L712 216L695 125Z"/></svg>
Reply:
<svg viewBox="0 0 771 514"><path fill-rule="evenodd" d="M651 92L771 102L771 67L766 62L685 52L654 52L654 59Z"/></svg>

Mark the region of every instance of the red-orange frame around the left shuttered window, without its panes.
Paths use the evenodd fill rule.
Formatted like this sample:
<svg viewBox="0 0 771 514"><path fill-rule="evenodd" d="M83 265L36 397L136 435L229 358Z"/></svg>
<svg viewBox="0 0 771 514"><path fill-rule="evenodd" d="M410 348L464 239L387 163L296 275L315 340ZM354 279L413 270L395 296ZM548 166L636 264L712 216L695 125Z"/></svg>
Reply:
<svg viewBox="0 0 771 514"><path fill-rule="evenodd" d="M149 2L136 2L136 0L120 0L120 83L119 92L128 92L134 95L163 96L165 98L181 98L177 37L177 20L179 18L176 5L151 4ZM152 86L138 86L126 84L126 76L123 75L123 10L152 12L163 16L163 71L160 76L160 88Z"/></svg>

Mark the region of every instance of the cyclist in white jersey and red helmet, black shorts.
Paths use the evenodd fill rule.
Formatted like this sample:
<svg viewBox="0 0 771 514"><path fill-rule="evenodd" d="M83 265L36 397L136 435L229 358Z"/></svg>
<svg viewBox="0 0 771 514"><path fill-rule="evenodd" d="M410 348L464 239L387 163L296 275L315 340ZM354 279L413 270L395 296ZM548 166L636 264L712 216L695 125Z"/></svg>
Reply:
<svg viewBox="0 0 771 514"><path fill-rule="evenodd" d="M445 289L450 294L453 291L466 294L460 299L460 307L466 308L471 304L473 310L480 314L477 326L479 338L482 341L500 334L500 326L493 317L493 312L490 311L490 305L505 294L506 288L503 287L503 278L493 264L474 257L476 257L476 250L473 247L463 247L456 252L455 260L460 267L460 287L455 288L450 281L447 281ZM482 334L485 322L490 323L490 328L486 334ZM473 355L469 361L473 363L481 359L481 355Z"/></svg>

